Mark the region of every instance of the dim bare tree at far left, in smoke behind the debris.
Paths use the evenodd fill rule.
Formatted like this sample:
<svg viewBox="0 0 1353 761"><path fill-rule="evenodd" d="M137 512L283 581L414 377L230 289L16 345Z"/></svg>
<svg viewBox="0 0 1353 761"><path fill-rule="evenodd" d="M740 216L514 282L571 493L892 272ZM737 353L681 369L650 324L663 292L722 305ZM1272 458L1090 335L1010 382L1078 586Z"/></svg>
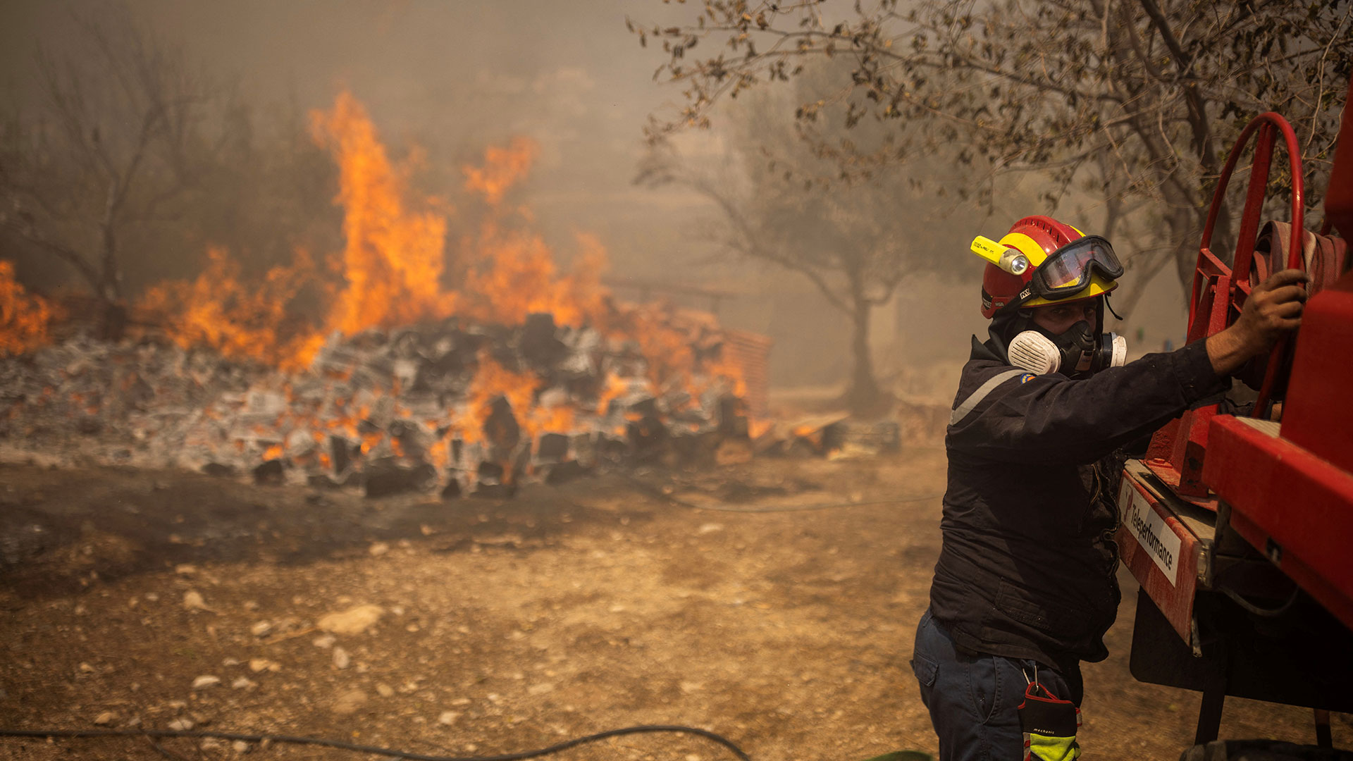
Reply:
<svg viewBox="0 0 1353 761"><path fill-rule="evenodd" d="M76 18L80 54L37 54L41 100L19 108L0 153L0 229L65 263L122 329L124 240L169 219L214 148L219 100L183 51L127 14Z"/></svg>

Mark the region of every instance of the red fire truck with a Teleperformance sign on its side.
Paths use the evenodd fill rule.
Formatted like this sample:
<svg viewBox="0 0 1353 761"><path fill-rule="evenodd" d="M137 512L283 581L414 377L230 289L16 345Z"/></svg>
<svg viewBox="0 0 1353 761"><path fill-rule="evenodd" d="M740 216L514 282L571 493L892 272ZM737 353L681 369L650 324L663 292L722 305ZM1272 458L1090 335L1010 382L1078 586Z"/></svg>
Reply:
<svg viewBox="0 0 1353 761"><path fill-rule="evenodd" d="M1353 93L1353 88L1350 88ZM1261 223L1275 148L1291 176L1288 222ZM1231 265L1210 248L1237 164L1252 158ZM1199 246L1188 340L1233 322L1269 272L1300 267L1310 301L1293 340L1227 399L1185 412L1128 460L1118 496L1123 562L1142 588L1131 670L1203 693L1188 761L1344 758L1330 711L1353 712L1353 116L1319 234L1303 219L1300 149L1277 114L1227 158ZM1333 237L1338 232L1341 237ZM1315 745L1216 741L1227 695L1314 710Z"/></svg>

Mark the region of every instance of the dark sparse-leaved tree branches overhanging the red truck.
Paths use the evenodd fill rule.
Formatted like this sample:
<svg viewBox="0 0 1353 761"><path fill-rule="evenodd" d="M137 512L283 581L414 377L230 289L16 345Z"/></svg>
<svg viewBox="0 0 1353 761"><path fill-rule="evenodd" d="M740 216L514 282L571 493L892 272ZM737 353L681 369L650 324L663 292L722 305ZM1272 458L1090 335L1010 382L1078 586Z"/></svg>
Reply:
<svg viewBox="0 0 1353 761"><path fill-rule="evenodd" d="M905 129L871 152L824 141L843 171L962 145L994 172L1046 173L1050 202L1073 179L1107 172L1101 192L1127 199L1115 214L1135 217L1145 236L1131 241L1134 264L1174 264L1181 282L1223 152L1254 114L1292 121L1308 187L1325 187L1353 61L1349 0L705 0L694 14L685 26L630 23L641 43L662 42L656 77L686 100L653 121L652 137L706 126L716 103L800 77L808 61L846 60L848 76L805 99L798 121L835 108L846 125ZM1275 184L1284 179L1279 171Z"/></svg>

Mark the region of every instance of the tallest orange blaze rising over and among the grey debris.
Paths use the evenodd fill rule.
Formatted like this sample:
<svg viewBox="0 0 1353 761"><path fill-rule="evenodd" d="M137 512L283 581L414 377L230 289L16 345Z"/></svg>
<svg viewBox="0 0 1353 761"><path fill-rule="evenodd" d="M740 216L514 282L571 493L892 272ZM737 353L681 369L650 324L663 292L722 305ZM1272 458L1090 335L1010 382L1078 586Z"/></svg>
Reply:
<svg viewBox="0 0 1353 761"><path fill-rule="evenodd" d="M655 305L617 305L599 283L606 252L597 238L578 234L572 267L560 271L551 246L532 232L530 213L503 204L509 190L529 172L538 153L534 142L514 138L506 148L488 148L482 165L463 168L463 190L483 198L484 217L478 233L448 251L449 206L437 198L411 195L409 177L417 157L392 162L367 111L350 93L340 93L333 110L311 114L311 134L340 168L336 203L344 209L344 249L318 263L298 251L291 264L273 267L258 282L246 282L223 249L210 249L202 276L162 283L141 302L165 316L179 344L206 345L226 356L253 357L291 371L310 366L331 333L346 336L451 316L520 325L529 314L549 313L557 325L591 325L607 337L636 341L649 380L659 390L700 394L704 383L714 382L713 371L739 382L740 372L731 363L698 357L693 349L697 340L717 332L710 320ZM452 280L460 287L451 288ZM299 298L302 294L306 299ZM303 317L294 306L300 301L318 302L318 313ZM329 376L342 380L352 370L329 368ZM605 412L626 387L620 376L609 376L598 409ZM455 435L467 443L482 440L483 425L499 397L511 406L524 437L570 432L574 408L543 406L537 401L540 390L541 380L533 372L515 372L482 356L467 414L453 420ZM398 394L398 380L387 391ZM354 416L341 413L340 418L321 421L313 412L304 420L279 421L279 427L304 424L353 439L356 421L368 416L368 402L354 399ZM336 402L336 412L344 406ZM410 412L399 414L409 417ZM446 422L452 431L452 420ZM383 435L361 439L363 451L369 451ZM446 458L445 443L433 445L433 458ZM391 447L399 452L398 443Z"/></svg>

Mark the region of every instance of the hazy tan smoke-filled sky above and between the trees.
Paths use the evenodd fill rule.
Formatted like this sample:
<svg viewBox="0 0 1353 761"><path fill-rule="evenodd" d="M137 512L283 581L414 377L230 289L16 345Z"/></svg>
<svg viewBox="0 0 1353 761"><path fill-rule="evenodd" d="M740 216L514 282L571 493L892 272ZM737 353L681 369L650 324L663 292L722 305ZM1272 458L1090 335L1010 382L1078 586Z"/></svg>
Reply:
<svg viewBox="0 0 1353 761"><path fill-rule="evenodd" d="M729 261L709 236L698 234L714 214L701 196L632 184L644 152L643 125L655 111L676 108L682 96L678 88L653 81L662 51L640 47L625 30L625 18L647 26L690 22L695 5L660 0L122 3L214 76L235 83L260 108L269 103L327 108L337 92L352 91L396 154L418 145L429 161L452 164L488 145L505 145L513 135L533 138L540 157L520 196L548 242L568 248L575 232L591 233L607 249L613 275L739 291L744 295L724 302L720 316L725 324L775 339L775 382L839 380L847 374L844 316L800 276ZM7 95L22 97L31 91L39 45L69 45L73 14L110 7L93 0L5 3L0 8L0 84ZM970 234L997 237L1001 232ZM908 357L966 356L967 334L982 330L976 257L973 272L966 284L904 286L898 307L875 321L875 344L892 352L877 357L881 367L907 364ZM1166 303L1173 295L1165 297ZM1169 316L1153 330L1157 347L1173 321Z"/></svg>

